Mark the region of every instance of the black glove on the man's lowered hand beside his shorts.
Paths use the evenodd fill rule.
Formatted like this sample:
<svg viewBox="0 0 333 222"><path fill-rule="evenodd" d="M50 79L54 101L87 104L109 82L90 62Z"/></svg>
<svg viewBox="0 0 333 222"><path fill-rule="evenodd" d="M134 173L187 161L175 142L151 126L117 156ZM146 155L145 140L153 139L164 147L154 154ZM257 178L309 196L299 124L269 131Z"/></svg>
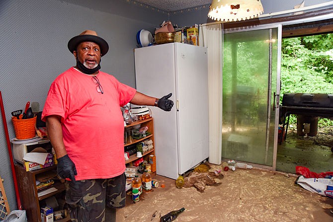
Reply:
<svg viewBox="0 0 333 222"><path fill-rule="evenodd" d="M75 183L75 176L78 175L77 168L75 167L74 162L71 160L71 158L66 154L58 160L58 167L57 171L60 177L66 179L70 178L73 183Z"/></svg>

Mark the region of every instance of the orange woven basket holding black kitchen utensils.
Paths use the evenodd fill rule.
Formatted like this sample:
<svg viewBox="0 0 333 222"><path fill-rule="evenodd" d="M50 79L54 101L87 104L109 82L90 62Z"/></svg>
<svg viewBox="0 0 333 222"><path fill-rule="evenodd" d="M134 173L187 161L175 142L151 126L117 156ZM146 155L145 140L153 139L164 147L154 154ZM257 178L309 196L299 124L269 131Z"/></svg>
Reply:
<svg viewBox="0 0 333 222"><path fill-rule="evenodd" d="M36 136L36 120L37 116L30 119L18 120L16 117L11 117L14 126L16 139L25 140Z"/></svg>

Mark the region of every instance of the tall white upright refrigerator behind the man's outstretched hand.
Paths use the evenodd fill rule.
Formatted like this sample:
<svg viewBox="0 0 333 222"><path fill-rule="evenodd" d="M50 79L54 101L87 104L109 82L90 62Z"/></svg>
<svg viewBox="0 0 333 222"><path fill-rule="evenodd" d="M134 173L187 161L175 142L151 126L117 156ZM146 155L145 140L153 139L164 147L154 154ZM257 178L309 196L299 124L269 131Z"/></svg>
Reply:
<svg viewBox="0 0 333 222"><path fill-rule="evenodd" d="M170 112L150 107L157 174L176 179L209 157L207 48L183 43L137 48L137 91L161 98Z"/></svg>

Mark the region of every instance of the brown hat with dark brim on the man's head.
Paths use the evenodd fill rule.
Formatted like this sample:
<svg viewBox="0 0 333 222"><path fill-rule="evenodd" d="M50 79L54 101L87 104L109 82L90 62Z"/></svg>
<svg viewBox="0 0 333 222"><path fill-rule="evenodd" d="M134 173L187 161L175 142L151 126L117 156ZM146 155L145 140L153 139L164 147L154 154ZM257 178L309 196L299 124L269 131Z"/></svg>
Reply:
<svg viewBox="0 0 333 222"><path fill-rule="evenodd" d="M109 45L101 37L97 36L95 31L85 30L80 35L77 35L68 42L68 49L73 53L77 50L77 47L82 42L94 42L99 45L100 53L104 56L109 50Z"/></svg>

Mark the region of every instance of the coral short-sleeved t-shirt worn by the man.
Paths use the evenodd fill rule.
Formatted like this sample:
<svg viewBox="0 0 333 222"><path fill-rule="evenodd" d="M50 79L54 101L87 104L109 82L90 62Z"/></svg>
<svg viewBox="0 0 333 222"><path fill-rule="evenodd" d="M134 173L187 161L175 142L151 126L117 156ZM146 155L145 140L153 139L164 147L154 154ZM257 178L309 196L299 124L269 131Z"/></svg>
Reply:
<svg viewBox="0 0 333 222"><path fill-rule="evenodd" d="M42 120L49 115L61 116L63 140L75 163L76 180L111 178L125 171L124 120L120 107L132 100L136 89L99 71L91 75L73 67L60 74L51 84Z"/></svg>

